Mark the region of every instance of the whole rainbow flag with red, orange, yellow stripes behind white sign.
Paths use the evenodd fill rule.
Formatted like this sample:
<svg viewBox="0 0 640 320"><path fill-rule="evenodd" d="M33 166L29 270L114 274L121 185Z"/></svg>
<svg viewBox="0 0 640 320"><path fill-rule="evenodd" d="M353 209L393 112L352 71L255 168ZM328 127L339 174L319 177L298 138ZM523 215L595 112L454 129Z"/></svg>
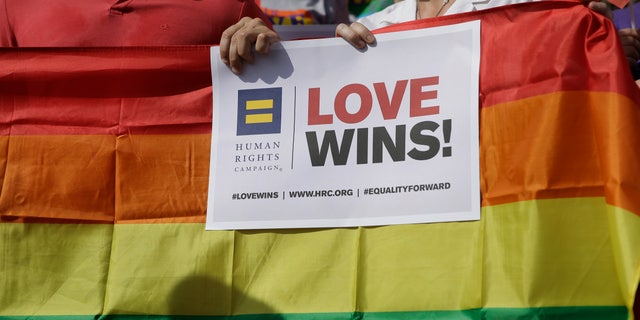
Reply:
<svg viewBox="0 0 640 320"><path fill-rule="evenodd" d="M0 50L0 319L632 319L640 91L613 24L548 1L385 31L474 19L473 222L205 231L208 47Z"/></svg>

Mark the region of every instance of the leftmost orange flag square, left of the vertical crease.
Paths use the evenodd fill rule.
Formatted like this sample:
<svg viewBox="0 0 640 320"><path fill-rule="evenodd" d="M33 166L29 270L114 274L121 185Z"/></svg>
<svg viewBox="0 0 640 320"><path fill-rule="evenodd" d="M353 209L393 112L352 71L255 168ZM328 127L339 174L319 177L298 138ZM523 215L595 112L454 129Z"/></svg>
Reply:
<svg viewBox="0 0 640 320"><path fill-rule="evenodd" d="M114 136L10 136L3 221L113 221Z"/></svg>

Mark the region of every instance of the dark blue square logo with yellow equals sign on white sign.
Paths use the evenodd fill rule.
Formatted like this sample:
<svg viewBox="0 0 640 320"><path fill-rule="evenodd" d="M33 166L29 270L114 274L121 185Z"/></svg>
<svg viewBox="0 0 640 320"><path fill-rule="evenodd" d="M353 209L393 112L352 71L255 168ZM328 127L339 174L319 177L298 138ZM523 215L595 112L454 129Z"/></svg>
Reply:
<svg viewBox="0 0 640 320"><path fill-rule="evenodd" d="M239 136L280 133L282 88L238 91Z"/></svg>

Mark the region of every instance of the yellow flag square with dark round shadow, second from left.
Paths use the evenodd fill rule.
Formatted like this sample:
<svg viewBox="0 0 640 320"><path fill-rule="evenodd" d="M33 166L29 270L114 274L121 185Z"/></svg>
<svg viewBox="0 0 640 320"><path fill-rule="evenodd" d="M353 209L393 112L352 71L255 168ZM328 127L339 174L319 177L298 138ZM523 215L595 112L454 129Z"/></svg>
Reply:
<svg viewBox="0 0 640 320"><path fill-rule="evenodd" d="M227 314L233 245L199 223L116 225L105 314Z"/></svg>

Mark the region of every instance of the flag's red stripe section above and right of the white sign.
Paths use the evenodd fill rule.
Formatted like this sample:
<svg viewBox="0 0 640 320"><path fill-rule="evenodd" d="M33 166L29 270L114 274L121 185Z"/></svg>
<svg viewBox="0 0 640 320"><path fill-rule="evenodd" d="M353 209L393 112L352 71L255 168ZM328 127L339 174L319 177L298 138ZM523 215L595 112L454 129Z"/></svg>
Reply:
<svg viewBox="0 0 640 320"><path fill-rule="evenodd" d="M614 91L640 101L612 22L576 1L541 1L393 25L481 20L482 107L559 91Z"/></svg>

